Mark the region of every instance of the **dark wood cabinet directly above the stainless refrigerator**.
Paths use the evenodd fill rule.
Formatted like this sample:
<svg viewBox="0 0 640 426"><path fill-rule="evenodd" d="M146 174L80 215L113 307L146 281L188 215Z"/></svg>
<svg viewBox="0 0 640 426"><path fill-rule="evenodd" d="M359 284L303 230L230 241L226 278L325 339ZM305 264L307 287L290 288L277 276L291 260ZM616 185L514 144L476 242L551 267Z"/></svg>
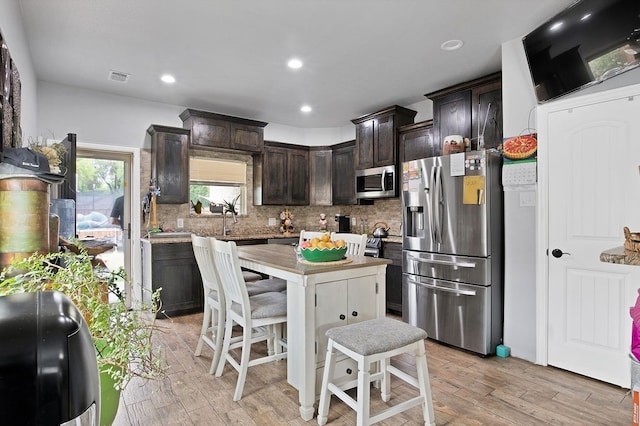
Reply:
<svg viewBox="0 0 640 426"><path fill-rule="evenodd" d="M437 92L427 93L433 101L433 137L442 152L448 135L462 135L477 146L484 129L485 148L502 143L502 74L494 73ZM486 125L485 125L486 121Z"/></svg>

